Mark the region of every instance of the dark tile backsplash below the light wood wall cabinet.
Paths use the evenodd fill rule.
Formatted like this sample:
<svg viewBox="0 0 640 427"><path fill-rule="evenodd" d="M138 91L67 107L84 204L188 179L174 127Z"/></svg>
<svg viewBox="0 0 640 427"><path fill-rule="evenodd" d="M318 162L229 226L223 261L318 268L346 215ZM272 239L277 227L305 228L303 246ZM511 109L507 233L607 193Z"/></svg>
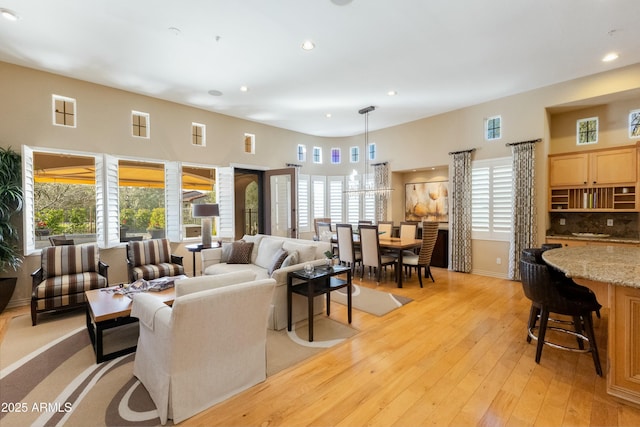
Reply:
<svg viewBox="0 0 640 427"><path fill-rule="evenodd" d="M637 212L552 212L549 217L547 234L603 233L611 237L640 238ZM565 224L561 225L563 219ZM613 226L607 225L609 219L613 220Z"/></svg>

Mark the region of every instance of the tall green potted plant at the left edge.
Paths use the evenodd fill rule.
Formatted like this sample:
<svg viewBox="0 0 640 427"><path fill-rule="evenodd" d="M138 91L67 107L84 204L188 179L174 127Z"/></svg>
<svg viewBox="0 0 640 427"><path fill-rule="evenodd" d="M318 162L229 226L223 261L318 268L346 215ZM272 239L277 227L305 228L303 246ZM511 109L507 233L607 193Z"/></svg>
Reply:
<svg viewBox="0 0 640 427"><path fill-rule="evenodd" d="M0 274L9 269L17 271L22 264L18 248L20 236L12 222L22 210L22 159L11 147L0 147ZM0 312L2 312L16 287L16 277L0 278Z"/></svg>

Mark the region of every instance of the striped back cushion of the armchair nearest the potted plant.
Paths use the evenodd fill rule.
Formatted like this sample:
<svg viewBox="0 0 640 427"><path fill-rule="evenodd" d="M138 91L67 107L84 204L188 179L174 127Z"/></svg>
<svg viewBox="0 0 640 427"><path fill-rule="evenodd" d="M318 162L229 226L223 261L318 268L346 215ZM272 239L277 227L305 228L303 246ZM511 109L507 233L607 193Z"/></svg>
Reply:
<svg viewBox="0 0 640 427"><path fill-rule="evenodd" d="M98 271L98 245L50 246L42 249L43 278Z"/></svg>

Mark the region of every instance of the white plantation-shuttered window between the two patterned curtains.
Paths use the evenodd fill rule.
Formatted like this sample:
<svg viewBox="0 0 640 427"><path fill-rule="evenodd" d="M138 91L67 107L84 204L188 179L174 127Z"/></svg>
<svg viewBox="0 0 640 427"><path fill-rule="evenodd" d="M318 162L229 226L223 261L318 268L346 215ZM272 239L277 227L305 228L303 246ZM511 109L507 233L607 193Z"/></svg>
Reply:
<svg viewBox="0 0 640 427"><path fill-rule="evenodd" d="M513 212L511 158L472 163L472 238L508 241Z"/></svg>

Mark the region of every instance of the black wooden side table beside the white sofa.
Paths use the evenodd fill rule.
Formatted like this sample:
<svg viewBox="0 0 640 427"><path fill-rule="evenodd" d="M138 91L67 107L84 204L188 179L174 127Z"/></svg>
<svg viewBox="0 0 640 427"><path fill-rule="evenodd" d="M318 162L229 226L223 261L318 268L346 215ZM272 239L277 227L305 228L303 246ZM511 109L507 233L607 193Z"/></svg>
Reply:
<svg viewBox="0 0 640 427"><path fill-rule="evenodd" d="M346 274L347 279L336 277ZM293 284L297 279L298 283ZM305 270L291 271L287 274L287 330L291 331L291 309L293 294L306 296L309 307L309 342L313 341L313 299L318 295L327 296L327 316L331 314L331 291L347 288L347 316L351 323L351 268L342 265L333 267L316 267L312 272Z"/></svg>

